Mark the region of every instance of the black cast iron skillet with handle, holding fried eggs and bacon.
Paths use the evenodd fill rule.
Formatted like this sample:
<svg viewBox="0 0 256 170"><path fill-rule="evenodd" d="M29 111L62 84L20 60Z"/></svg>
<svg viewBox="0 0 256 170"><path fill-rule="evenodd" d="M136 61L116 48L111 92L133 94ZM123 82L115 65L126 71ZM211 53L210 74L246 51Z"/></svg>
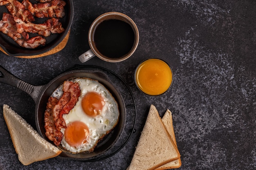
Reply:
<svg viewBox="0 0 256 170"><path fill-rule="evenodd" d="M106 151L108 151L112 146L115 145L119 137L121 136L122 131L124 130L125 122L126 122L126 108L124 105L124 100L117 90L115 86L112 85L112 82L107 77L107 75L101 71L90 71L90 70L73 70L62 73L58 75L48 84L43 86L33 86L24 82L12 75L5 68L0 66L0 82L9 84L13 87L19 88L22 91L25 91L29 94L34 101L36 102L36 111L35 111L35 119L36 119L36 128L39 134L44 137L47 141L47 137L45 136L45 128L44 128L44 114L46 109L46 104L49 96L52 92L61 85L65 80L73 78L73 77L87 77L91 79L98 80L101 84L103 84L108 91L112 94L112 96L117 101L119 107L119 122L117 126L103 138L102 141L94 149L94 152L87 154L72 154L66 151L63 151L61 155L59 155L63 159L76 159L76 160L89 160L95 159L101 155L103 155ZM49 141L52 143L52 141Z"/></svg>

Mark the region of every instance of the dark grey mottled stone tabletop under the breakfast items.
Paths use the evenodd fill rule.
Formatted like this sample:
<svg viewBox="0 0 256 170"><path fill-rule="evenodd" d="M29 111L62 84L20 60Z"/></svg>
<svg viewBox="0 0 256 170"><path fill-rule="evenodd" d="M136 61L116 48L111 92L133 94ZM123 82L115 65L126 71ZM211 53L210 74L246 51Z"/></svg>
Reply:
<svg viewBox="0 0 256 170"><path fill-rule="evenodd" d="M26 93L0 83L0 169L125 170L139 139L150 104L162 116L173 113L180 170L256 169L256 1L254 0L74 0L74 21L65 49L22 59L0 54L0 64L33 85L81 64L89 49L88 29L102 13L119 11L138 26L137 51L120 63L94 57L81 65L102 66L130 87L137 104L136 132L116 155L97 162L52 158L22 166L2 115L8 104L34 128L35 103ZM139 92L133 74L141 61L157 57L173 69L167 93Z"/></svg>

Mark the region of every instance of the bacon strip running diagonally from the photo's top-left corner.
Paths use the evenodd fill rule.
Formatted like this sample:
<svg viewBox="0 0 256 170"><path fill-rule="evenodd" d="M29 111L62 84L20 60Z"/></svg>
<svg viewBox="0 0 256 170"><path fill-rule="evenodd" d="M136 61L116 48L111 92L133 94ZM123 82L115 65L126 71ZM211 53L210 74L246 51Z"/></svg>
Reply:
<svg viewBox="0 0 256 170"><path fill-rule="evenodd" d="M20 18L22 21L25 22L33 22L35 18L29 12L29 10L25 9L25 6L20 3L18 0L1 0L0 5L6 5L9 13L11 15Z"/></svg>

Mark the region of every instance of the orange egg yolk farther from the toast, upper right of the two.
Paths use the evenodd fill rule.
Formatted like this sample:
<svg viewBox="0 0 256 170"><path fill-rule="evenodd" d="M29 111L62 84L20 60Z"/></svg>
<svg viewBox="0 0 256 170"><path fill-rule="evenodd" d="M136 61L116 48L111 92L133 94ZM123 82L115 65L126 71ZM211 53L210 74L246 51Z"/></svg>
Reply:
<svg viewBox="0 0 256 170"><path fill-rule="evenodd" d="M89 92L82 99L83 111L90 117L101 114L104 105L103 97L96 92Z"/></svg>

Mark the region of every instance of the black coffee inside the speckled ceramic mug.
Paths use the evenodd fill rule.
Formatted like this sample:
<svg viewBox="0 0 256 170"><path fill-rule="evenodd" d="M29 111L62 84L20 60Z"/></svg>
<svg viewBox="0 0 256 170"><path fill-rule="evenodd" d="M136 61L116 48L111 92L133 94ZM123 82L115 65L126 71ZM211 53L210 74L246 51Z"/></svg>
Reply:
<svg viewBox="0 0 256 170"><path fill-rule="evenodd" d="M119 58L127 54L132 49L134 38L130 24L121 20L105 20L94 33L97 49L110 58Z"/></svg>

